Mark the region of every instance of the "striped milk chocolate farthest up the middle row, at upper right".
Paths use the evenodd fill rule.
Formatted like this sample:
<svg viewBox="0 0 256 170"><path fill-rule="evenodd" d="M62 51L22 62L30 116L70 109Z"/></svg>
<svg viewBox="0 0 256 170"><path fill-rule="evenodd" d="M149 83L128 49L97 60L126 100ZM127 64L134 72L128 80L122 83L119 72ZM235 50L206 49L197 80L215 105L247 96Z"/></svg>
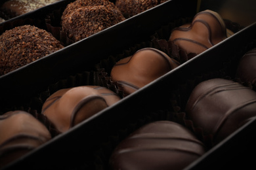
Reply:
<svg viewBox="0 0 256 170"><path fill-rule="evenodd" d="M226 37L227 31L223 18L217 12L204 10L194 16L192 24L173 29L169 40L174 41L190 56L190 54L202 53Z"/></svg>

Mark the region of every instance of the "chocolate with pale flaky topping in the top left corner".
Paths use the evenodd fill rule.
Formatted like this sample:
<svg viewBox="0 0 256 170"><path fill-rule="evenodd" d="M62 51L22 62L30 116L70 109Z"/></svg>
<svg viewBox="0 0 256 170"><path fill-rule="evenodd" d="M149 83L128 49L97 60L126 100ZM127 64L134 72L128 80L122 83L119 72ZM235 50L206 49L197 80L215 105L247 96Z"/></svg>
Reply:
<svg viewBox="0 0 256 170"><path fill-rule="evenodd" d="M1 5L1 10L10 18L45 7L60 0L9 0Z"/></svg>

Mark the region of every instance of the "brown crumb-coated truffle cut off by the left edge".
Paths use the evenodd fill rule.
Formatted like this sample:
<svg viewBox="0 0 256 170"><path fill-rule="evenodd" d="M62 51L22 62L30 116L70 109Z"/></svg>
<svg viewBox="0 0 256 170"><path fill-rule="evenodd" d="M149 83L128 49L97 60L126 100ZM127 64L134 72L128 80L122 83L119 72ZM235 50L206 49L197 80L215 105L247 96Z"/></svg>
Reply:
<svg viewBox="0 0 256 170"><path fill-rule="evenodd" d="M22 25L0 35L0 75L64 48L51 33Z"/></svg>

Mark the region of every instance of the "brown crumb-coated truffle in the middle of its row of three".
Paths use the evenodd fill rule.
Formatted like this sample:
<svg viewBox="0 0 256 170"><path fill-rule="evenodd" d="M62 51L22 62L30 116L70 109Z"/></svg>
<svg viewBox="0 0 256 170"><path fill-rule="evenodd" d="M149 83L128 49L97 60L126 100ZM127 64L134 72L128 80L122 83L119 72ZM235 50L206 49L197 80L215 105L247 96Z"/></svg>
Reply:
<svg viewBox="0 0 256 170"><path fill-rule="evenodd" d="M121 12L112 5L83 6L75 3L75 6L79 8L70 5L62 15L62 33L66 33L74 42L125 20Z"/></svg>

